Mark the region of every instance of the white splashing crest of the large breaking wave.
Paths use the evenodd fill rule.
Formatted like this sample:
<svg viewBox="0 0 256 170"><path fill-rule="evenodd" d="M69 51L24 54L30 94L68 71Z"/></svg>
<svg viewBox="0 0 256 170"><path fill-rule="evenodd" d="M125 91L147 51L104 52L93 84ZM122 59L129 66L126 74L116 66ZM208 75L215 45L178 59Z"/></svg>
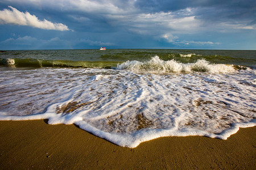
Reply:
<svg viewBox="0 0 256 170"><path fill-rule="evenodd" d="M233 65L210 64L205 59L198 59L195 63L180 63L174 59L163 61L158 56L152 57L150 61L126 61L117 65L119 70L146 71L150 73L192 73L192 72L209 72L209 73L232 73Z"/></svg>

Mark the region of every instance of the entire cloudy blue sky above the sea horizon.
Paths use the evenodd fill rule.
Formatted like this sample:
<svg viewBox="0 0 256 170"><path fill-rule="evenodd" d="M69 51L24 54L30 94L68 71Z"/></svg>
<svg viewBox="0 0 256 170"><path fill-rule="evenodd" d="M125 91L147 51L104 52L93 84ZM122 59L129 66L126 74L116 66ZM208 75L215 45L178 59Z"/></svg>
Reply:
<svg viewBox="0 0 256 170"><path fill-rule="evenodd" d="M0 50L101 46L256 50L256 1L0 1Z"/></svg>

